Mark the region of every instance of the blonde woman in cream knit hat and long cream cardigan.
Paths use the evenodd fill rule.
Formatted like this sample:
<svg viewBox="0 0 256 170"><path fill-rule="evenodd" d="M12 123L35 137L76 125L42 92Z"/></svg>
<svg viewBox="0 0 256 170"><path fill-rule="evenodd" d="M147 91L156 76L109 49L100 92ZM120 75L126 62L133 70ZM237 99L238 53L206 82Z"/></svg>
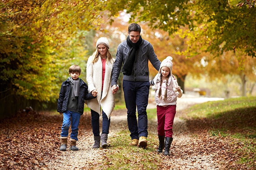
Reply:
<svg viewBox="0 0 256 170"><path fill-rule="evenodd" d="M115 107L115 96L111 91L111 72L115 59L109 52L109 42L101 37L96 42L96 51L87 61L88 91L97 94L97 98L89 100L87 106L91 109L91 124L94 135L93 148L108 146L107 139L110 125L110 115ZM102 112L101 112L102 109ZM102 133L100 135L99 118L102 115Z"/></svg>

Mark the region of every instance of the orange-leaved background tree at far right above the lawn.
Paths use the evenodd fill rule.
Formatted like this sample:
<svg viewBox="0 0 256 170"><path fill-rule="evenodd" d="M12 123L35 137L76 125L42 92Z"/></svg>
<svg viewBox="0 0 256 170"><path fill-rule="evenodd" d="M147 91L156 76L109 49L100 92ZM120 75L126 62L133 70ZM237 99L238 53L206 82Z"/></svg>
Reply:
<svg viewBox="0 0 256 170"><path fill-rule="evenodd" d="M255 84L256 82L256 60L252 60L245 53L228 51L220 57L214 57L208 53L202 57L201 67L205 70L209 81L220 79L227 84L226 75L236 76L240 79L240 95L246 96L252 93L254 85L247 90L246 83L250 81Z"/></svg>

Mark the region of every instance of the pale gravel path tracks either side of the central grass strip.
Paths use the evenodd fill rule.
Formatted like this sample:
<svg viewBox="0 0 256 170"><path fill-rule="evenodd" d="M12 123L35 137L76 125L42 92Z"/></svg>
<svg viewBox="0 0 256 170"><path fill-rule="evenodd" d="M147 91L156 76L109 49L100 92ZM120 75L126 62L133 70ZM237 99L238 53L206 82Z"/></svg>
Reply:
<svg viewBox="0 0 256 170"><path fill-rule="evenodd" d="M200 152L191 152L186 146L191 143L196 143L196 138L191 138L187 132L186 122L180 119L179 112L185 108L206 101L221 100L219 98L204 98L204 97L189 97L183 96L177 101L177 114L174 119L174 141L171 146L172 155L163 159L164 164L167 167L171 167L174 170L186 170L186 169L204 169L204 170L217 170L218 164L214 160L214 153L209 155L202 155ZM155 104L150 103L148 108L154 108ZM109 139L116 135L116 132L126 129L126 111L113 112L111 115L111 125ZM157 135L157 123L150 121L148 124L148 132ZM149 141L150 142L150 141ZM61 155L55 160L48 163L48 169L50 170L78 170L89 169L93 167L100 160L104 158L106 150L93 149L93 135L92 132L84 132L80 130L79 141L77 143L80 150L78 152L61 152Z"/></svg>

